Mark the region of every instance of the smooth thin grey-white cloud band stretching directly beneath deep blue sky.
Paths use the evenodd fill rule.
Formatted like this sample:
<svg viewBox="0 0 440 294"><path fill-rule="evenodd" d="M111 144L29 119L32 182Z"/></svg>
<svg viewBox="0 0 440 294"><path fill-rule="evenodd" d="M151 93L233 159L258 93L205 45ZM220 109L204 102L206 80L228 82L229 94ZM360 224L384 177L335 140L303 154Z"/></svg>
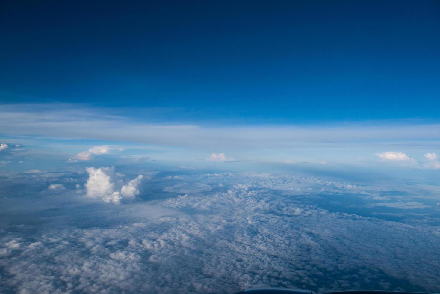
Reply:
<svg viewBox="0 0 440 294"><path fill-rule="evenodd" d="M107 110L108 112L108 110ZM0 129L4 134L57 138L119 140L180 146L255 147L313 146L317 142L440 140L439 124L232 126L203 127L187 123L148 123L109 115L103 109L70 104L2 105ZM87 157L87 156L85 156Z"/></svg>

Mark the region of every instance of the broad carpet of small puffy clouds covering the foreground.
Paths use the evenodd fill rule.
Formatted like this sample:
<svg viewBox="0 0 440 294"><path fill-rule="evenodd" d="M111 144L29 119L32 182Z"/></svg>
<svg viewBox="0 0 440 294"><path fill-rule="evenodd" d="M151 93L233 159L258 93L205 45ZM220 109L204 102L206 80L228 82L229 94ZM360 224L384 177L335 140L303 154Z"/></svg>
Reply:
<svg viewBox="0 0 440 294"><path fill-rule="evenodd" d="M90 167L87 193L98 198L115 191L136 194L133 187L142 179L123 178L114 168ZM317 205L320 197L342 201L339 197L351 194L377 197L394 211L427 206L415 201L397 205L404 199L379 197L389 195L382 187L312 176L229 173L158 176L150 185L152 191L168 193L152 201L154 210L167 209L166 215L133 213L146 208L140 202L85 202L88 206L77 209L78 223L70 221L70 226L45 225L38 233L34 225L2 229L1 287L23 293L440 290L438 226L330 212ZM83 227L86 219L94 222Z"/></svg>

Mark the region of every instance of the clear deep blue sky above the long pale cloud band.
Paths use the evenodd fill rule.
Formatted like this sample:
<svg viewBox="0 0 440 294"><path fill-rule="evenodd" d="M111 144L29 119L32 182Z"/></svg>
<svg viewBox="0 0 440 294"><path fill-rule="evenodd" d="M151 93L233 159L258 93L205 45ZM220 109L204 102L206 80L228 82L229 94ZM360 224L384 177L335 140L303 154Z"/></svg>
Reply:
<svg viewBox="0 0 440 294"><path fill-rule="evenodd" d="M0 101L437 119L439 31L439 1L7 1Z"/></svg>

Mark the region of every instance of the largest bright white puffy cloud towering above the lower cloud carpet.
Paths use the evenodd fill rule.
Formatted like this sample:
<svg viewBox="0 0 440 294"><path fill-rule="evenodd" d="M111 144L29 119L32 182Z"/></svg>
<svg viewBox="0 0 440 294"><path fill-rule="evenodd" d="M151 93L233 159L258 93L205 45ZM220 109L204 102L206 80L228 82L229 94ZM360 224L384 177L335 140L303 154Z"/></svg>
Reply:
<svg viewBox="0 0 440 294"><path fill-rule="evenodd" d="M143 175L125 182L121 174L114 173L114 167L88 167L88 180L85 184L87 196L101 198L107 203L121 204L123 200L131 200L139 195L139 187Z"/></svg>

